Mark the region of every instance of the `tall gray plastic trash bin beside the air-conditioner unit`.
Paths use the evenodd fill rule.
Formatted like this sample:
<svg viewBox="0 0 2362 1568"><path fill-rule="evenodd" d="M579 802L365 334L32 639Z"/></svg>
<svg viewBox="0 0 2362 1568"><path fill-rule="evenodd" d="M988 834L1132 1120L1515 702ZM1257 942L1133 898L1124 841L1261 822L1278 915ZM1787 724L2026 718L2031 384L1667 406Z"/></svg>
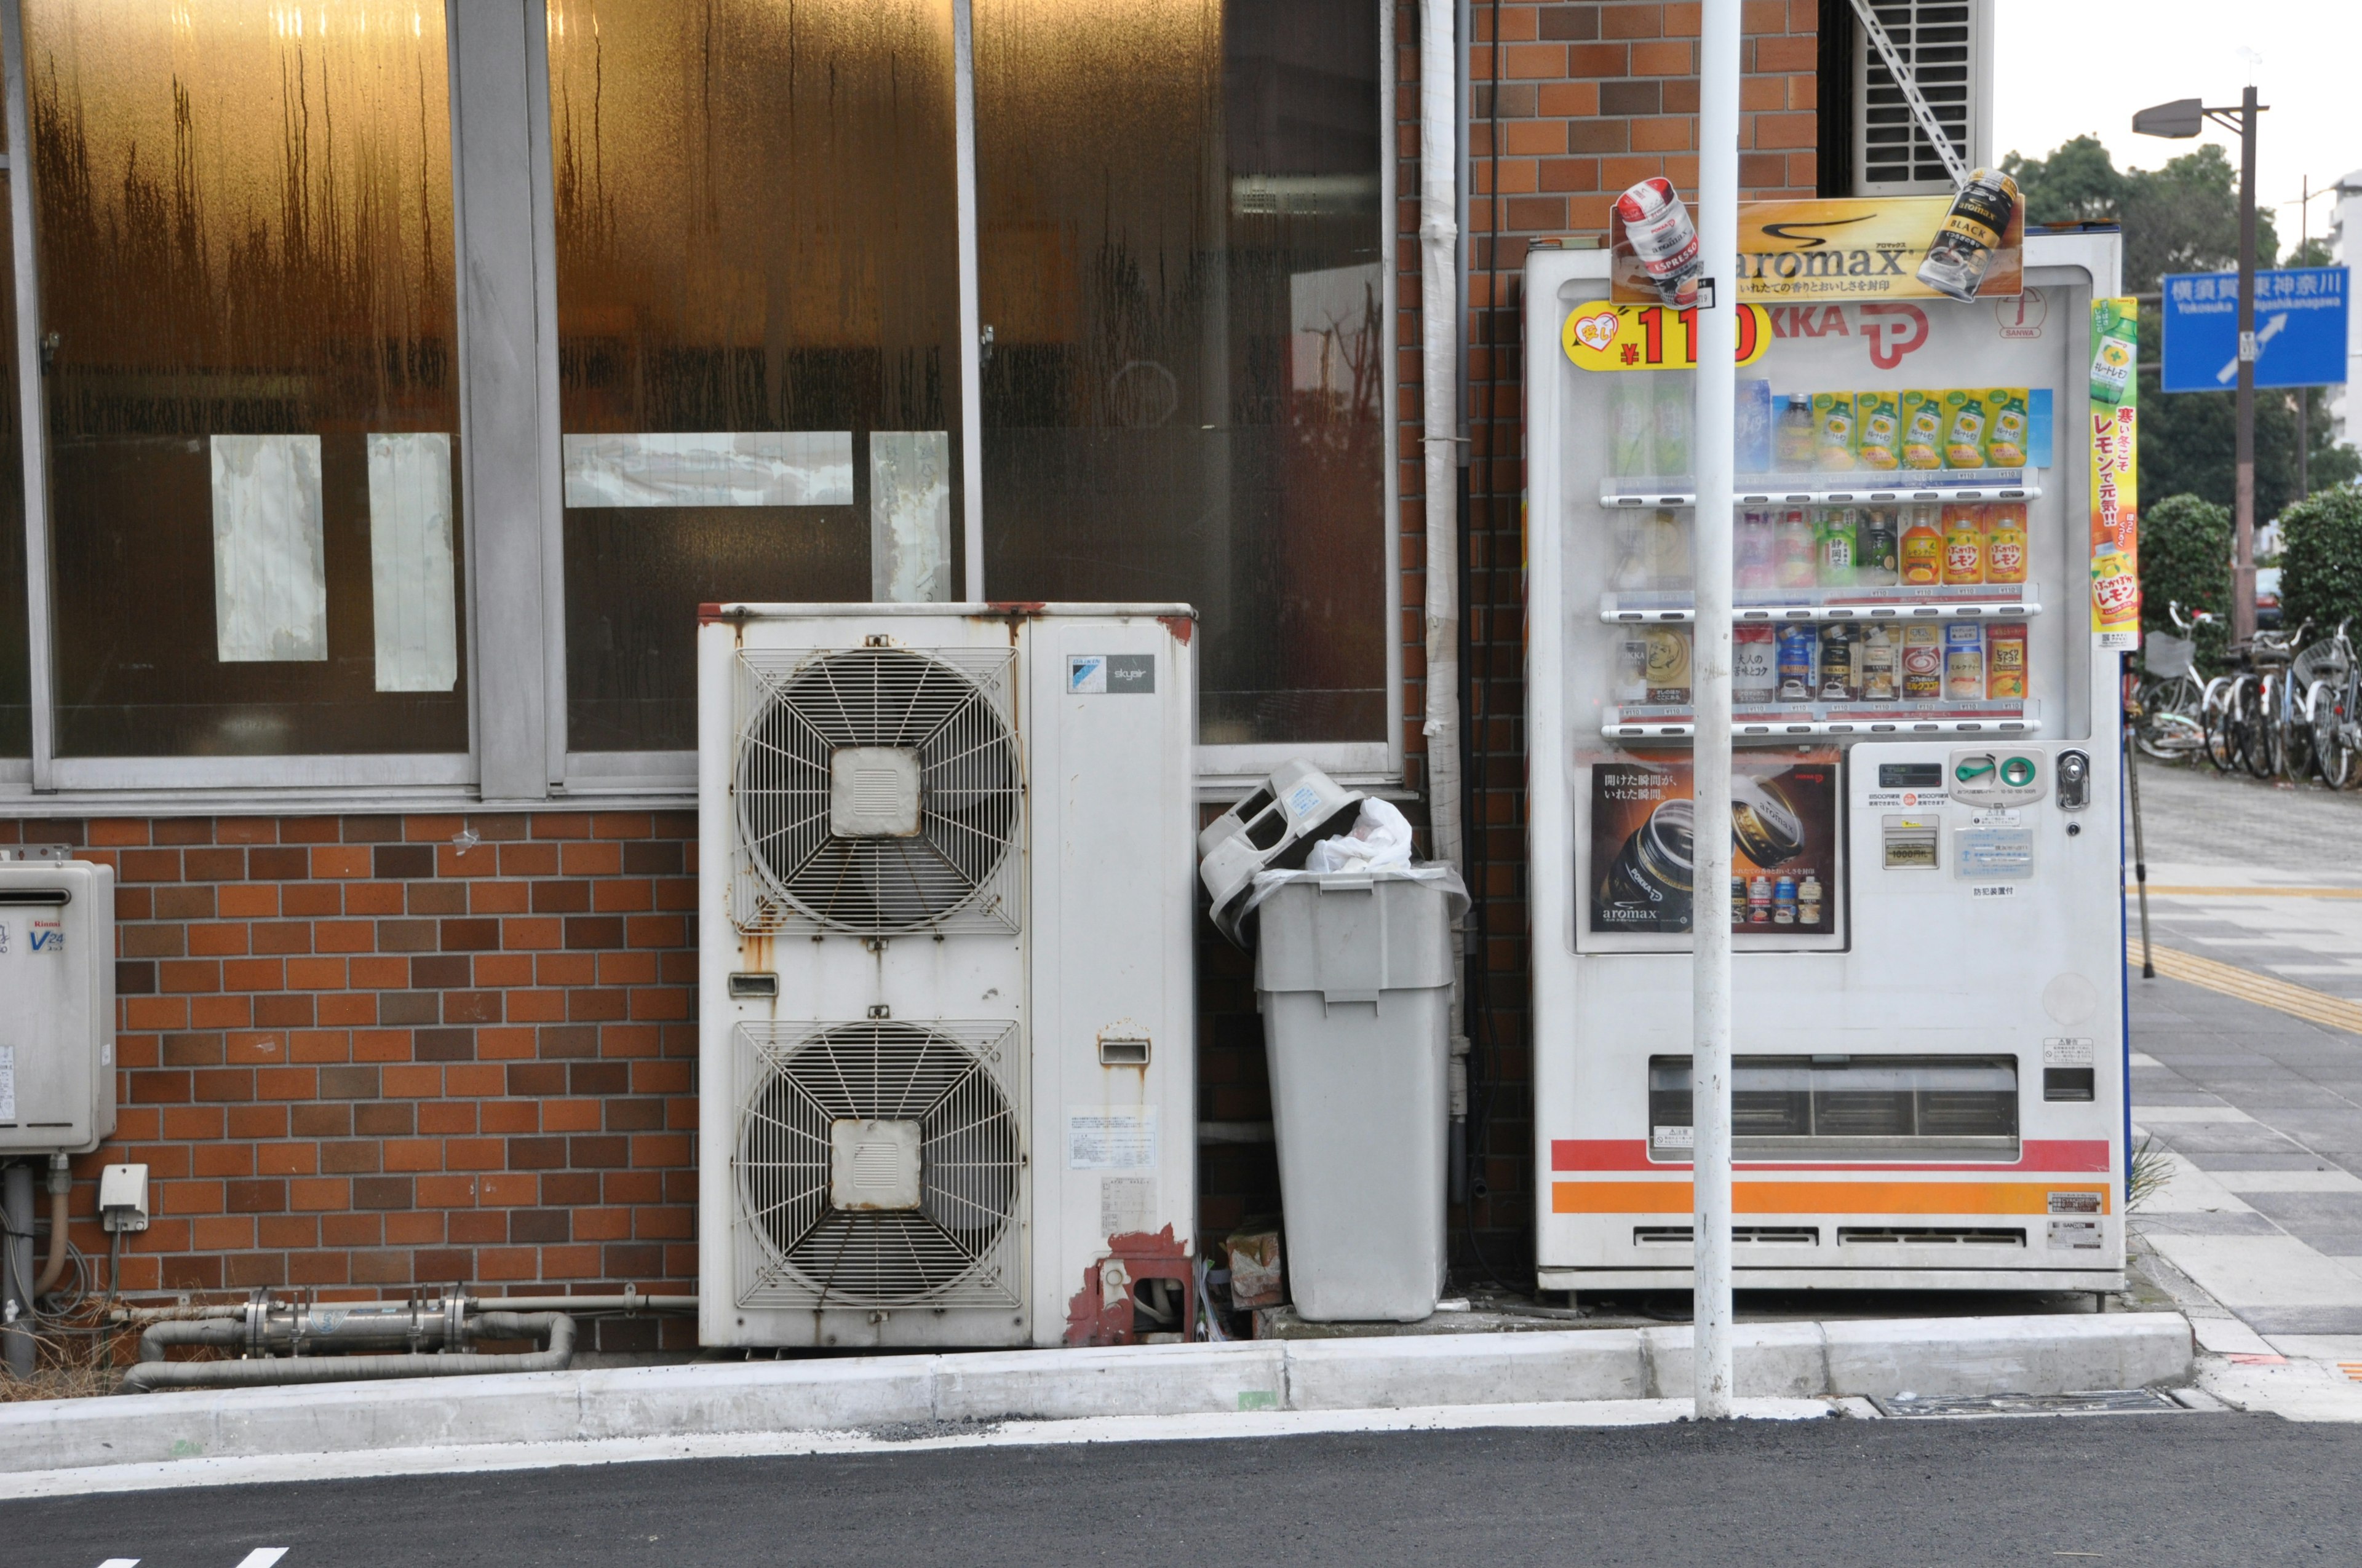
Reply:
<svg viewBox="0 0 2362 1568"><path fill-rule="evenodd" d="M1294 871L1259 900L1254 992L1304 1318L1417 1322L1443 1292L1455 900L1441 867Z"/></svg>

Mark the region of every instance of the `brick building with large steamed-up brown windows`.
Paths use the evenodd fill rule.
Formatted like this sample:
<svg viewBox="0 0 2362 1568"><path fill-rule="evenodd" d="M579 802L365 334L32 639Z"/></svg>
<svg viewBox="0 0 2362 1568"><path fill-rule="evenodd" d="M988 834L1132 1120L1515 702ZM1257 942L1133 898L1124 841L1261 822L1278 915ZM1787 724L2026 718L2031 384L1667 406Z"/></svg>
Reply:
<svg viewBox="0 0 2362 1568"><path fill-rule="evenodd" d="M1420 5L976 0L966 128L947 0L0 5L0 841L120 874L125 1292L694 1278L699 602L1186 600L1207 803L1420 812ZM1878 12L1982 156L1984 7ZM1469 17L1455 1233L1514 1278L1514 283L1694 187L1696 7ZM1746 24L1750 194L1937 177L1847 0ZM1221 1235L1278 1183L1209 933L1200 1018Z"/></svg>

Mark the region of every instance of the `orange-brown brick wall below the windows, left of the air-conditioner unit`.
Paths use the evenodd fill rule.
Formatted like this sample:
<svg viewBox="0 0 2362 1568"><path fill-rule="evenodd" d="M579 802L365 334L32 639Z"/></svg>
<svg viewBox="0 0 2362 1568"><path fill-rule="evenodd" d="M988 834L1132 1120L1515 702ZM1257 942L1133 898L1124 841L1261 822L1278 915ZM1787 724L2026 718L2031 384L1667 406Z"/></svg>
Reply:
<svg viewBox="0 0 2362 1568"><path fill-rule="evenodd" d="M118 876L120 1112L76 1162L76 1244L106 1252L97 1167L137 1159L125 1292L694 1289L694 831L0 822Z"/></svg>

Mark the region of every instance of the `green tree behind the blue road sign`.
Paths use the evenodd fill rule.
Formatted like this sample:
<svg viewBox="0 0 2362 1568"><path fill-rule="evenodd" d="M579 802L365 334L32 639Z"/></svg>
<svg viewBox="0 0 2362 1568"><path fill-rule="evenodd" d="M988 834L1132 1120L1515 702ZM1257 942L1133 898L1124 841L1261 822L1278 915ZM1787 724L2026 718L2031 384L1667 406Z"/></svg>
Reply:
<svg viewBox="0 0 2362 1568"><path fill-rule="evenodd" d="M2239 170L2220 146L2199 146L2157 170L2119 170L2097 137L2076 137L2048 158L2010 153L2001 168L2017 179L2027 222L2116 222L2123 227L2123 290L2154 295L2168 272L2223 272L2239 264ZM2256 267L2279 255L2268 210L2256 213ZM2291 267L2327 264L2315 241ZM2230 505L2237 494L2237 394L2161 392L2159 307L2140 307L2140 489L2190 494ZM2256 392L2256 522L2270 522L2296 498L2298 397ZM2362 453L2331 442L2329 399L2312 397L2308 482L2315 491L2362 472ZM2161 607L2159 607L2161 612Z"/></svg>

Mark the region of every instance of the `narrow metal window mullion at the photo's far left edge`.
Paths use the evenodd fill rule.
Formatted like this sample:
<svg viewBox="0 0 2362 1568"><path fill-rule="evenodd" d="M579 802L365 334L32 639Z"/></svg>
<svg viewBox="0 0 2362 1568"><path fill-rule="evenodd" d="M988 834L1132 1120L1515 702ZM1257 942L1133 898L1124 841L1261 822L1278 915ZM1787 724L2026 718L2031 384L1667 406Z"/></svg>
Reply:
<svg viewBox="0 0 2362 1568"><path fill-rule="evenodd" d="M26 668L33 706L33 789L50 791L57 758L57 680L50 642L50 423L40 387L40 255L33 243L33 116L24 97L24 9L0 0L0 73L7 90L7 205L17 262L17 444L24 484Z"/></svg>

